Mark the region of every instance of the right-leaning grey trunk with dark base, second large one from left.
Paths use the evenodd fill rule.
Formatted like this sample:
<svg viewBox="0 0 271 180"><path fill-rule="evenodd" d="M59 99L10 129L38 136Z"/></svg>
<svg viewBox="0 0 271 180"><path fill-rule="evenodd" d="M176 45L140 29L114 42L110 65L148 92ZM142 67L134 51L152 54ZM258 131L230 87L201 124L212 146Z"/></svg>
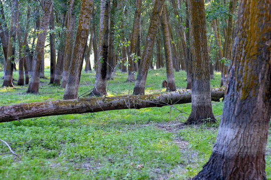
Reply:
<svg viewBox="0 0 271 180"><path fill-rule="evenodd" d="M40 25L40 33L35 50L35 65L31 76L30 84L27 93L39 93L40 72L42 68L42 59L44 58L44 45L46 40L47 29L49 25L50 15L52 11L52 0L45 0L43 4L44 14L42 15L42 22Z"/></svg>

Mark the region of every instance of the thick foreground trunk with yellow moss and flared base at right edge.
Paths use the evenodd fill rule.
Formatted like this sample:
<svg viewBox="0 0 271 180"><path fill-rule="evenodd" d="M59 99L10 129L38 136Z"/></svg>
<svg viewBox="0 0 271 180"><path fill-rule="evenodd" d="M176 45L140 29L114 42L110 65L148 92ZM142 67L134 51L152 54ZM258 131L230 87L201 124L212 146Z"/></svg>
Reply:
<svg viewBox="0 0 271 180"><path fill-rule="evenodd" d="M270 1L239 3L218 135L209 161L194 179L266 179L264 156L271 114L269 12Z"/></svg>

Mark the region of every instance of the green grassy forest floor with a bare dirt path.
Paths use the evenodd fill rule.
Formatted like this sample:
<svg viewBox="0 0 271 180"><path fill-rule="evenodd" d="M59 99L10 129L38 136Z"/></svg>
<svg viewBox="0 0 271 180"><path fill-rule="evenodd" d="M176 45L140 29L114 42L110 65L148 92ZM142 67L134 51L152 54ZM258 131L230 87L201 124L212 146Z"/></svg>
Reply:
<svg viewBox="0 0 271 180"><path fill-rule="evenodd" d="M150 70L146 93L165 91L165 68ZM46 69L49 78L49 69ZM3 76L3 72L0 72ZM15 72L18 79L18 72ZM132 93L134 83L117 71L109 95ZM79 94L90 90L95 76L82 73ZM175 72L178 89L186 87L185 71ZM3 79L0 79L0 84ZM41 79L40 94L28 85L0 88L0 105L57 100L64 89ZM215 72L211 87L220 84ZM212 102L215 124L186 125L191 103L143 109L37 117L0 123L0 179L188 179L207 162L216 139L223 102ZM266 173L271 179L271 130L266 147Z"/></svg>

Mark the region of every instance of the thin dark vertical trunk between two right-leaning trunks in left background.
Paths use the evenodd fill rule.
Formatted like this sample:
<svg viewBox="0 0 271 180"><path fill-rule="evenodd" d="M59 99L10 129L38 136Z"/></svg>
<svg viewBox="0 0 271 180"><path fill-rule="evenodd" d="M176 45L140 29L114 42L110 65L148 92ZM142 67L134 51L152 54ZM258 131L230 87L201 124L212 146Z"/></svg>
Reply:
<svg viewBox="0 0 271 180"><path fill-rule="evenodd" d="M53 8L54 9L54 8ZM50 22L49 22L50 30L55 29L55 18L54 18L54 10L51 12ZM56 34L55 32L50 33L50 82L53 83L56 74Z"/></svg>

